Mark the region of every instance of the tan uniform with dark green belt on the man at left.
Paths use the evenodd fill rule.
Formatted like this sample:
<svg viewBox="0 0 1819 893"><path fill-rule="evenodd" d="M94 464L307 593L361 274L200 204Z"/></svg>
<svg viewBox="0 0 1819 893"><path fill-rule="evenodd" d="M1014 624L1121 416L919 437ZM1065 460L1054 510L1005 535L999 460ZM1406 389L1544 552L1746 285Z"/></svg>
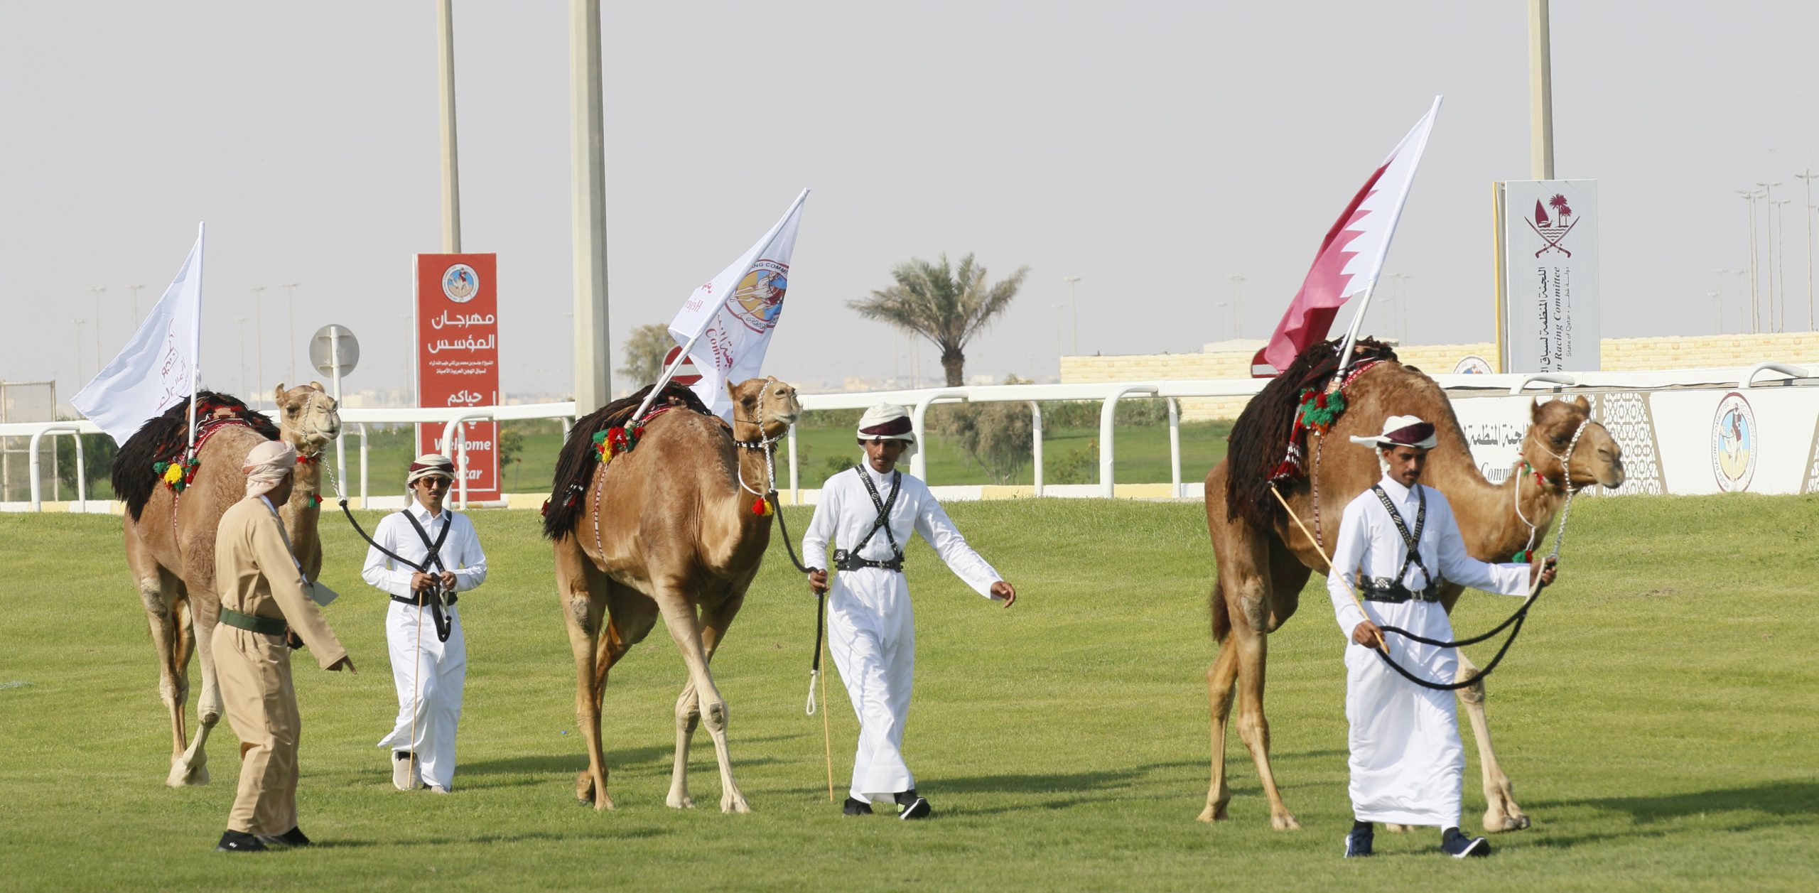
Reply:
<svg viewBox="0 0 1819 893"><path fill-rule="evenodd" d="M302 571L264 497L222 515L215 537L215 586L224 609L280 618L304 638L322 669L347 657L322 609L304 591ZM227 722L240 737L240 791L227 829L282 835L296 828L296 689L284 637L215 626L215 675Z"/></svg>

